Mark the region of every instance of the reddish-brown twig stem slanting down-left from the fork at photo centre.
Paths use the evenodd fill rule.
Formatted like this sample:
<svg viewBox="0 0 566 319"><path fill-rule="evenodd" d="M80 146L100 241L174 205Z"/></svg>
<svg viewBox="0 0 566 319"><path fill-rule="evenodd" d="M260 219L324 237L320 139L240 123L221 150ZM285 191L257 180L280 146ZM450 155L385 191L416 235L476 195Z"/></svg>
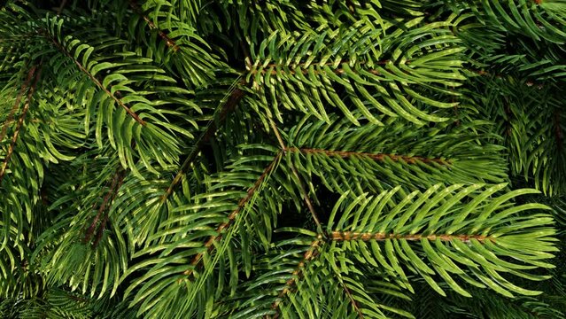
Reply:
<svg viewBox="0 0 566 319"><path fill-rule="evenodd" d="M252 199L253 194L255 194L255 192L260 189L261 183L266 179L267 175L269 175L269 173L271 173L271 171L275 168L275 164L279 161L281 156L282 156L281 152L279 152L279 153L277 153L277 155L275 155L275 158L271 161L271 163L269 163L269 165L267 165L267 167L265 167L265 169L263 170L263 173L261 173L260 177L258 177L258 179L255 181L255 183L253 183L252 187L250 187L248 189L244 198L241 198L240 201L237 203L236 209L234 209L228 215L228 221L222 222L216 228L216 235L213 235L213 236L208 238L208 240L205 243L205 247L207 249L207 252L210 252L210 251L213 250L213 246L214 246L213 244L221 239L222 231L228 229L229 226L236 219L237 215L240 214L240 212L242 212L242 209L244 209L244 206L250 201L250 199ZM198 253L197 255L195 255L195 257L192 259L192 261L190 261L190 265L191 266L197 266L198 263L200 261L202 261L204 254L205 253ZM193 269L194 268L187 269L187 270L183 271L182 274L186 275L186 276L190 276L193 272Z"/></svg>

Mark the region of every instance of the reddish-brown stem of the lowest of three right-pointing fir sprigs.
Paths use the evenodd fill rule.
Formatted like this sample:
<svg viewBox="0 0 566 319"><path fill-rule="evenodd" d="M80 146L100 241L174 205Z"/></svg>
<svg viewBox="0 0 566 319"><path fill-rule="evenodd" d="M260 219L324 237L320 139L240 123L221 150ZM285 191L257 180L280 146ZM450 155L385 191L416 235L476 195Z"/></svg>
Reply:
<svg viewBox="0 0 566 319"><path fill-rule="evenodd" d="M348 241L348 240L388 240L388 239L405 239L405 240L421 240L422 238L426 238L429 240L436 240L440 239L442 241L452 241L454 239L458 239L461 242L469 242L470 239L476 239L478 241L495 241L495 238L483 235L422 235L422 234L414 234L414 235L400 235L400 234L392 234L392 233L371 233L371 232L353 232L353 231L332 231L329 236L330 240L336 241Z"/></svg>

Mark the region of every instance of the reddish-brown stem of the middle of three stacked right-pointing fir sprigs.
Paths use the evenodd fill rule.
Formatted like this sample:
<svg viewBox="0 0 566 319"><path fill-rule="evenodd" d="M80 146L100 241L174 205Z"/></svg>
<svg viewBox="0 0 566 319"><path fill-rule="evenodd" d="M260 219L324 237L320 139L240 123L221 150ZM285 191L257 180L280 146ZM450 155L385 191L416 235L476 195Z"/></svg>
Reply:
<svg viewBox="0 0 566 319"><path fill-rule="evenodd" d="M417 161L423 163L437 163L440 165L450 165L452 164L448 159L429 159L422 156L406 156L406 155L395 155L395 154L384 154L384 153L370 153L370 152L348 152L348 151L330 151L322 149L311 149L311 148L296 148L291 147L286 149L287 152L301 152L304 154L325 154L327 156L338 156L343 159L347 159L353 156L367 157L374 160L384 160L385 158L392 159L394 161L404 161L409 164L415 164Z"/></svg>

